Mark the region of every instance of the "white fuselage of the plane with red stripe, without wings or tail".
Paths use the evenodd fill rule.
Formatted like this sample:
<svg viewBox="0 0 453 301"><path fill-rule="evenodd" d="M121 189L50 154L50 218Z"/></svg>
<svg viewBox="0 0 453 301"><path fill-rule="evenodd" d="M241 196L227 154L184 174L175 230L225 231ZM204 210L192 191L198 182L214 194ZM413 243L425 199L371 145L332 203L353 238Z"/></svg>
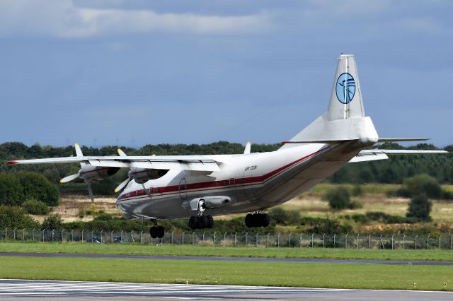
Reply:
<svg viewBox="0 0 453 301"><path fill-rule="evenodd" d="M205 212L215 216L263 210L314 187L362 147L309 143L268 153L206 155L220 162L218 172L170 170L144 184L149 193L131 181L118 196L117 208L126 218L188 218L194 212L183 208L183 202L227 196L231 202L226 206Z"/></svg>

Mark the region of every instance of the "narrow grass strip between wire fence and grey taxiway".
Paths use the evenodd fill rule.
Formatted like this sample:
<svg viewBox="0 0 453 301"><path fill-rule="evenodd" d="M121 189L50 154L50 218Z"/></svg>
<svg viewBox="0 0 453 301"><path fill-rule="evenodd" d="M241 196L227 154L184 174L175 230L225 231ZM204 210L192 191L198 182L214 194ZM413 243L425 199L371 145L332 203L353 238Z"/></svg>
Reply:
<svg viewBox="0 0 453 301"><path fill-rule="evenodd" d="M155 246L149 244L1 242L0 252L453 261L452 251L438 249L301 249L275 247L208 247L192 245L172 246L168 244Z"/></svg>

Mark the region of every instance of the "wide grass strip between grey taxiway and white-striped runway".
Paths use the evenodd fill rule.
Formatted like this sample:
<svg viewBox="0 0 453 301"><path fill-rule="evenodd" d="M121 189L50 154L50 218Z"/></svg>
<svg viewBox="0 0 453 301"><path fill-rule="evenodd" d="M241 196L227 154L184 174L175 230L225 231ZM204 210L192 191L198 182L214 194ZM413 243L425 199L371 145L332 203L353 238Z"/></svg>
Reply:
<svg viewBox="0 0 453 301"><path fill-rule="evenodd" d="M450 266L3 257L0 278L453 290L451 270Z"/></svg>

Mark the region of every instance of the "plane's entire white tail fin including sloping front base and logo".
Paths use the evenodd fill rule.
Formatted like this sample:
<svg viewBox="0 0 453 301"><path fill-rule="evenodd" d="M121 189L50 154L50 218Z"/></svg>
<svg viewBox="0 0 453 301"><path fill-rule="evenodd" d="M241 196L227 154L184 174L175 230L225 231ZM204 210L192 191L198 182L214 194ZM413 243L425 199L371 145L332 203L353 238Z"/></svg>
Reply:
<svg viewBox="0 0 453 301"><path fill-rule="evenodd" d="M371 118L365 117L355 57L352 54L340 54L327 111L286 141L282 148L294 147L297 143L350 140L360 140L370 145L378 141L378 136Z"/></svg>

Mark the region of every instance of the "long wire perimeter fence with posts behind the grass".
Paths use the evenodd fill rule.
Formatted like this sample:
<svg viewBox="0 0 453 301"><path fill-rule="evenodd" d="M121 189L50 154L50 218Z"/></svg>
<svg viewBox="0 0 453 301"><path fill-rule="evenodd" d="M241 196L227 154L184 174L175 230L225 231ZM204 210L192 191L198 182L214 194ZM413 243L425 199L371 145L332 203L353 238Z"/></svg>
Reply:
<svg viewBox="0 0 453 301"><path fill-rule="evenodd" d="M299 247L343 249L450 249L453 235L327 235L273 233L166 232L151 238L147 232L88 230L0 229L0 242L85 242L210 245L214 247Z"/></svg>

